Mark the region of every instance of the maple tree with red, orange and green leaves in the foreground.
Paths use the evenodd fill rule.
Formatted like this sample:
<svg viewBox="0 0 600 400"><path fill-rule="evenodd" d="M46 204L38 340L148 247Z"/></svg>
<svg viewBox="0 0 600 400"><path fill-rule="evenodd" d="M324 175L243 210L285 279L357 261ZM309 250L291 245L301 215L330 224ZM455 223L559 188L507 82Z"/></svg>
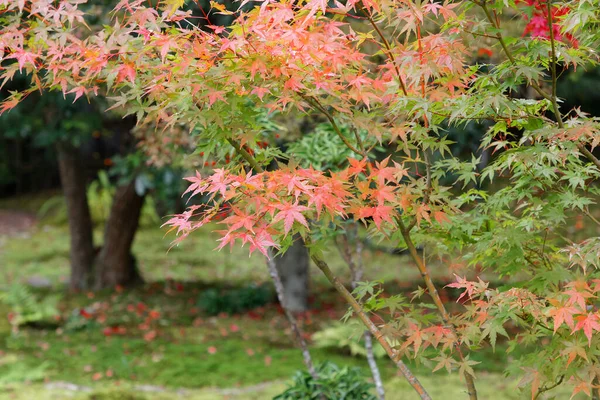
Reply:
<svg viewBox="0 0 600 400"><path fill-rule="evenodd" d="M600 241L566 236L577 215L600 225L600 121L562 109L556 90L563 68L598 61L597 0L264 0L239 11L213 2L202 27L179 9L184 0L122 0L112 25L96 30L86 27L83 2L0 0L0 79L26 73L32 83L0 111L37 90L75 100L102 93L165 136L185 126L206 160L235 160L188 178L186 194L207 201L167 222L177 241L218 221L218 248L272 257L300 235L348 316L422 399L430 395L404 357L457 371L476 399L469 353L495 347L498 336L519 348L508 373L533 399L560 384L574 394L598 389ZM527 16L522 37L504 26L502 16L515 13ZM213 25L214 14L234 22ZM489 42L493 53L479 55L496 54L495 65L470 64L474 38ZM521 86L536 98L515 97ZM263 145L257 105L318 115L352 156L335 170L301 166L293 152ZM495 157L483 169L475 154L454 157L445 134L471 121L490 126L481 146ZM393 154L375 159L377 143ZM267 170L275 159L280 168ZM413 302L382 297L373 282L351 293L332 273L322 250L348 219L408 250L425 284ZM448 311L430 262L484 268L510 283L459 278L449 286L464 290L461 306Z"/></svg>

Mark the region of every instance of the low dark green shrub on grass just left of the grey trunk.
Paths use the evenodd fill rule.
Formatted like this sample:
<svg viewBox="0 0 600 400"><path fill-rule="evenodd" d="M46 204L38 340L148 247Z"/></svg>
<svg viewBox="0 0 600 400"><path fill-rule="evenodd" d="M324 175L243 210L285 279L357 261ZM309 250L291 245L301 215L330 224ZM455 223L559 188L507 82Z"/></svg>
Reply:
<svg viewBox="0 0 600 400"><path fill-rule="evenodd" d="M209 315L239 314L269 304L273 298L273 291L265 285L221 291L208 289L200 295L198 306Z"/></svg>

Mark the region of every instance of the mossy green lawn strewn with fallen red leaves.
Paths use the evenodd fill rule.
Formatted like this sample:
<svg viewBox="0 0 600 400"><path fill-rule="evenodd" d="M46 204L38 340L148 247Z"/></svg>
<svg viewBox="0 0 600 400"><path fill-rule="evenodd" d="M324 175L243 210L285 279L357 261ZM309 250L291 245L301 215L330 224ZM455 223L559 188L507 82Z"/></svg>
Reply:
<svg viewBox="0 0 600 400"><path fill-rule="evenodd" d="M3 201L0 208L19 204L16 200ZM40 204L31 200L25 208L32 211ZM62 296L58 329L22 329L13 335L6 318L0 318L0 399L252 400L280 393L303 364L278 308L269 305L244 315L209 317L197 307L199 295L208 287L268 282L261 256L248 257L245 249L214 251L214 228L197 232L170 251L172 237L164 237L156 227L141 229L133 251L148 283L130 291L93 294L67 294L64 290L69 270L66 227L42 221L32 232L0 241L4 282L15 284L32 276L42 277L52 286L36 289L36 295ZM101 233L99 229L95 232L96 243L101 241ZM327 258L347 282L347 268L337 251L330 251ZM392 291L411 290L415 287L411 282L419 282L416 268L404 256L366 251L365 266L366 279L393 282ZM315 307L301 320L309 334L339 320L345 312L316 268L311 274L314 303L333 303L333 309ZM449 280L440 272L435 277ZM92 310L93 317L84 329L69 331L65 322L81 308ZM150 318L150 311L158 316ZM0 305L1 316L9 312ZM122 332L107 335L111 328ZM311 351L316 361L360 366L368 374L361 358L328 349ZM476 359L483 362L478 366L483 372L477 378L481 399L530 398L501 377L509 362L502 348L480 353ZM390 362L380 360L379 364L388 399L415 397ZM434 398L465 398L464 385L456 375L432 374L420 365L412 367ZM85 390L73 391L60 382ZM562 393L556 394L563 398ZM568 396L564 394L564 398Z"/></svg>

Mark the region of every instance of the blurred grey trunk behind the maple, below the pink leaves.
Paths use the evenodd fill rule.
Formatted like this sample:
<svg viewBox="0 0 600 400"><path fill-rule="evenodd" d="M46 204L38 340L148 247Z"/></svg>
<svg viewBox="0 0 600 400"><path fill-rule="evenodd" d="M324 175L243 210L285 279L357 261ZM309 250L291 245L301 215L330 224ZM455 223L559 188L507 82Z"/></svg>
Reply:
<svg viewBox="0 0 600 400"><path fill-rule="evenodd" d="M308 310L310 259L302 239L295 239L285 254L275 257L275 264L283 283L285 308L292 312L304 312Z"/></svg>

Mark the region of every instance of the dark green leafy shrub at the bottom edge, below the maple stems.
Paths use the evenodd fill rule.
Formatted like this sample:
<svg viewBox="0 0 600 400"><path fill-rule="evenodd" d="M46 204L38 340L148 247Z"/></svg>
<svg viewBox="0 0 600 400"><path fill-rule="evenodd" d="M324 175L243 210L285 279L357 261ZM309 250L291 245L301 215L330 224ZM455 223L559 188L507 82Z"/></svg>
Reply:
<svg viewBox="0 0 600 400"><path fill-rule="evenodd" d="M318 379L307 371L298 371L292 385L273 400L375 400L371 393L373 384L368 383L360 368L340 368L331 362L317 366Z"/></svg>

